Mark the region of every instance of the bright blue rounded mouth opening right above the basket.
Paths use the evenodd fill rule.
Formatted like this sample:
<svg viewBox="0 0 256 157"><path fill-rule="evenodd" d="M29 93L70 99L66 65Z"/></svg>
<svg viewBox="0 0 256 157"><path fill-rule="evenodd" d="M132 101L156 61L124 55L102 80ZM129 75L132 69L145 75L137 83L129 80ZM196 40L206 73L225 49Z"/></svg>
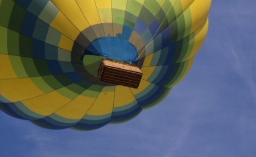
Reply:
<svg viewBox="0 0 256 157"><path fill-rule="evenodd" d="M84 56L94 55L127 64L138 63L138 51L129 41L113 36L93 40L84 50Z"/></svg>

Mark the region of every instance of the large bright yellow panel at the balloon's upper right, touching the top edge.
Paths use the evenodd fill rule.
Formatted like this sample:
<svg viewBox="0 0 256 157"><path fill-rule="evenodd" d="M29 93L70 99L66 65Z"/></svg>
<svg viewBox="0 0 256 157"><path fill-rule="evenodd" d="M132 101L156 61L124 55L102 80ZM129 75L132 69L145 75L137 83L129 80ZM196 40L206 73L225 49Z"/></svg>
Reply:
<svg viewBox="0 0 256 157"><path fill-rule="evenodd" d="M207 20L210 5L211 0L195 0L189 7L192 15L191 32L196 31Z"/></svg>

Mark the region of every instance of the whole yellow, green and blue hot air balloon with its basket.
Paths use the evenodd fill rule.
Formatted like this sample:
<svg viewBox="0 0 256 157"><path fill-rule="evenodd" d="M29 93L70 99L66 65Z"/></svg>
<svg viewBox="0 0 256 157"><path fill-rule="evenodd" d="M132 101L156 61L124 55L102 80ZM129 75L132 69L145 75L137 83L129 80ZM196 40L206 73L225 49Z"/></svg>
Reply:
<svg viewBox="0 0 256 157"><path fill-rule="evenodd" d="M48 129L93 130L159 104L187 75L208 32L211 1L0 5L1 110ZM107 65L115 69L108 73ZM127 79L130 73L136 76Z"/></svg>

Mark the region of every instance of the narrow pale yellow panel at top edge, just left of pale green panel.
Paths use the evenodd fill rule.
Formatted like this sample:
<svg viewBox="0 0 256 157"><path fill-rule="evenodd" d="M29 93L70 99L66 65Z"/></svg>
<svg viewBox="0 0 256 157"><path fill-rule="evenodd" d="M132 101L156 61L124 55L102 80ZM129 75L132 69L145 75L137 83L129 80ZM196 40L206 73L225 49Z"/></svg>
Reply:
<svg viewBox="0 0 256 157"><path fill-rule="evenodd" d="M111 0L95 0L101 23L112 23Z"/></svg>

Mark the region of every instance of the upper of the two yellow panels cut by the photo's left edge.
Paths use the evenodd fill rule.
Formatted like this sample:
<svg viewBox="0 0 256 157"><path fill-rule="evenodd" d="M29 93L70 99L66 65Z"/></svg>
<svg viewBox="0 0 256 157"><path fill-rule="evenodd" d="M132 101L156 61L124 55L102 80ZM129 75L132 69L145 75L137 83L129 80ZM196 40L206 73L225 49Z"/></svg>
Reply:
<svg viewBox="0 0 256 157"><path fill-rule="evenodd" d="M9 59L9 55L0 53L0 60L0 79L17 78L17 75Z"/></svg>

